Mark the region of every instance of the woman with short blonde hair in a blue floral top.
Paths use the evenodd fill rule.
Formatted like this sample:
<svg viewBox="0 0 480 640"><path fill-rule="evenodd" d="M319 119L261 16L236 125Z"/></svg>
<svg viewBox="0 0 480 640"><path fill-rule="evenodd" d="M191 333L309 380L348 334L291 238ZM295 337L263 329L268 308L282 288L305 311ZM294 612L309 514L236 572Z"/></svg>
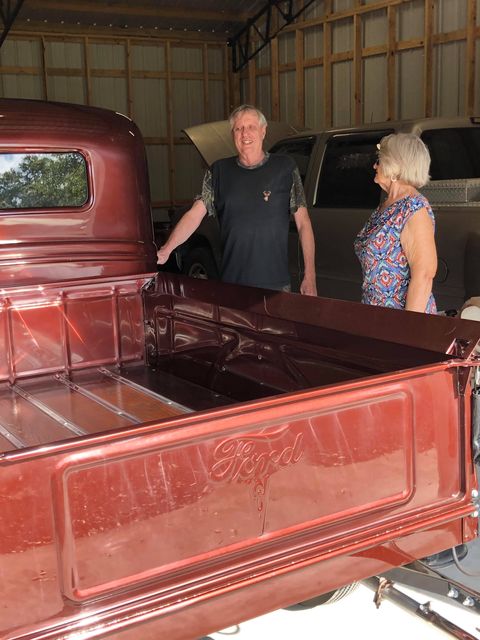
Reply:
<svg viewBox="0 0 480 640"><path fill-rule="evenodd" d="M417 188L428 182L430 154L420 138L382 138L375 182L387 193L355 240L363 270L362 302L435 313L435 220Z"/></svg>

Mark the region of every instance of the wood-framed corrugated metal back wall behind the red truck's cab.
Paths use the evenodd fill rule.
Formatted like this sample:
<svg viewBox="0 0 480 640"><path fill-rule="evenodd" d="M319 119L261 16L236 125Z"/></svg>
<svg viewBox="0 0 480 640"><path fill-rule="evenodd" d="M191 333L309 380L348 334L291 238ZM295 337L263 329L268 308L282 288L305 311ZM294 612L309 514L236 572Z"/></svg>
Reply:
<svg viewBox="0 0 480 640"><path fill-rule="evenodd" d="M226 47L218 42L11 33L0 72L1 96L90 104L133 118L145 138L156 209L190 202L200 189L202 162L182 129L223 120L231 106Z"/></svg>

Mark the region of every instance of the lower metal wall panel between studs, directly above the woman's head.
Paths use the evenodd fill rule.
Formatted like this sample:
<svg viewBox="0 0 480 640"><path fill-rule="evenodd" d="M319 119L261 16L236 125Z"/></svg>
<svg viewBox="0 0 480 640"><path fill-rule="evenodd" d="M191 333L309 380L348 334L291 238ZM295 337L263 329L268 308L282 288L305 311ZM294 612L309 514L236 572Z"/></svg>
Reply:
<svg viewBox="0 0 480 640"><path fill-rule="evenodd" d="M401 51L397 55L396 117L423 115L423 49Z"/></svg>

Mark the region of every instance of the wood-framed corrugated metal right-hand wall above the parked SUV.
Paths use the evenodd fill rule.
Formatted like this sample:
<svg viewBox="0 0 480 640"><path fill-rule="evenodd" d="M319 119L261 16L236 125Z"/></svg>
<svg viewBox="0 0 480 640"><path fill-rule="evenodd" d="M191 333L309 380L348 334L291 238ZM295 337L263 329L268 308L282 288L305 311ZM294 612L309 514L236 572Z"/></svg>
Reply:
<svg viewBox="0 0 480 640"><path fill-rule="evenodd" d="M322 128L480 114L480 0L317 0L276 41L238 83L238 99L273 118Z"/></svg>

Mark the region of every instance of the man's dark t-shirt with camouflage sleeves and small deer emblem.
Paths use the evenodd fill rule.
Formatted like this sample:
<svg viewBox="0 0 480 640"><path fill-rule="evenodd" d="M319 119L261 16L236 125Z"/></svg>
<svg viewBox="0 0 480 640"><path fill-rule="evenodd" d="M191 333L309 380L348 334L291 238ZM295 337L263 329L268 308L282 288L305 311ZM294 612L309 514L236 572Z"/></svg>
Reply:
<svg viewBox="0 0 480 640"><path fill-rule="evenodd" d="M280 154L267 156L253 168L240 165L236 157L213 163L208 176L213 202L207 196L205 204L220 223L224 282L266 289L290 284L289 218L305 204L300 182L300 202L292 211L292 187L295 183L298 189L299 181L295 173L294 160Z"/></svg>

